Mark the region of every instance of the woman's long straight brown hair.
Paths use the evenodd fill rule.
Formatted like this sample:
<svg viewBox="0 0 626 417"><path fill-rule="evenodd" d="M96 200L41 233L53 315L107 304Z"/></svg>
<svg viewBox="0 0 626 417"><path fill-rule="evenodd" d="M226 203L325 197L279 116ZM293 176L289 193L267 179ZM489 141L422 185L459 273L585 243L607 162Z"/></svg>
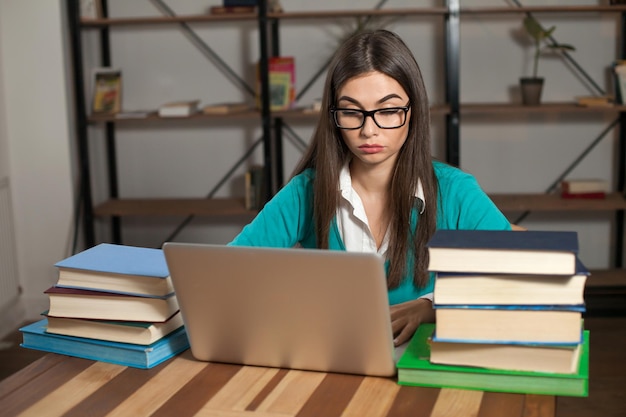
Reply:
<svg viewBox="0 0 626 417"><path fill-rule="evenodd" d="M413 280L422 287L428 282L426 243L436 228L438 185L430 155L430 110L422 73L413 54L396 34L387 30L362 32L339 47L328 69L320 119L295 174L307 168L315 170L313 204L317 244L320 249L327 249L331 221L339 205L339 173L351 157L330 116L330 108L348 80L372 71L396 80L411 103L408 136L396 160L387 202L389 212L393 213L387 253L388 287L400 284L409 260L414 269ZM418 179L426 206L419 216L416 233L412 234L411 216L414 209L419 209L415 199Z"/></svg>

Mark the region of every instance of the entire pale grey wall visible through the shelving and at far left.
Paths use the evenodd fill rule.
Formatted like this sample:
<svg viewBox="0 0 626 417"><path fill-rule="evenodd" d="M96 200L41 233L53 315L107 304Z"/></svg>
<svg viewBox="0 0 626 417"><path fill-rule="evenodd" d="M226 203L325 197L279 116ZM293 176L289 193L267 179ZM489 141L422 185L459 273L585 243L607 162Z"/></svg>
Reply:
<svg viewBox="0 0 626 417"><path fill-rule="evenodd" d="M219 0L166 1L177 14L204 12ZM288 10L373 7L377 0L348 0L332 4L283 0ZM390 0L385 7L428 7L436 0ZM525 5L561 5L562 1L523 1ZM54 262L66 253L71 232L71 113L65 76L63 15L60 0L5 0L0 2L0 53L4 73L6 137L11 181L15 192L16 229L25 296L31 315L39 313L46 299L41 292L55 280ZM160 15L152 2L109 0L111 16ZM504 6L501 0L463 1L464 7ZM567 4L596 5L596 0L568 0ZM607 68L617 48L615 17L557 18L539 16L545 25L556 24L555 37L572 43L574 58L604 88L610 87ZM422 67L431 101L442 103L444 89L443 32L441 17L409 17L387 25L401 34ZM351 21L311 20L281 23L281 51L296 57L298 90L332 53L338 37ZM465 16L461 31L462 101L509 102L519 100L517 80L528 72L527 51L512 36L521 15L508 17ZM254 81L258 59L255 22L192 24L194 30L222 58ZM24 28L28 28L25 30ZM36 30L35 30L36 29ZM89 31L88 31L89 32ZM85 34L85 60L97 65L95 31ZM111 28L113 65L124 74L123 106L126 110L154 109L178 99L201 99L203 104L247 97L193 46L176 24ZM547 79L545 101L571 101L591 91L558 59L545 59L540 72ZM88 74L88 73L87 73ZM322 80L302 99L309 104L321 95ZM2 83L0 83L0 88ZM1 90L0 90L1 91ZM1 112L0 112L1 113ZM1 116L0 116L1 117ZM602 130L611 117L568 115L519 115L510 118L466 118L462 124L461 164L474 173L488 192L542 192ZM0 118L0 120L2 120ZM291 122L308 139L308 122ZM434 154L443 157L442 118L434 117ZM100 127L92 127L90 151L94 165L95 202L106 198L104 150ZM135 125L118 130L120 192L131 197L203 196L258 136L259 124L251 121L210 126L205 123ZM3 150L0 129L0 151ZM6 144L4 145L6 146ZM572 174L613 180L611 163L615 135L611 133ZM299 152L285 145L285 172L294 167ZM260 162L257 153L250 163ZM4 160L0 156L0 169ZM242 195L240 170L218 196ZM124 221L128 244L158 246L182 219L133 219ZM609 265L610 221L607 215L532 214L523 225L531 228L578 230L581 256L589 267ZM177 240L224 243L241 222L196 219ZM98 223L98 235L107 239L108 224Z"/></svg>

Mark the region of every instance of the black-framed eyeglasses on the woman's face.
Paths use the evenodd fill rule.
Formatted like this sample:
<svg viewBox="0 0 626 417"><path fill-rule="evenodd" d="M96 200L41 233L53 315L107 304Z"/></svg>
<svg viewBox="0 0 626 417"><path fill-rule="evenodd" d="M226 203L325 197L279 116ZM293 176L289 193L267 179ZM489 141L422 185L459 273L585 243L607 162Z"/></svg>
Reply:
<svg viewBox="0 0 626 417"><path fill-rule="evenodd" d="M411 108L408 104L403 107L387 107L376 110L359 110L331 108L330 112L339 129L360 129L365 124L365 119L371 117L376 126L381 129L397 129L406 123L406 114Z"/></svg>

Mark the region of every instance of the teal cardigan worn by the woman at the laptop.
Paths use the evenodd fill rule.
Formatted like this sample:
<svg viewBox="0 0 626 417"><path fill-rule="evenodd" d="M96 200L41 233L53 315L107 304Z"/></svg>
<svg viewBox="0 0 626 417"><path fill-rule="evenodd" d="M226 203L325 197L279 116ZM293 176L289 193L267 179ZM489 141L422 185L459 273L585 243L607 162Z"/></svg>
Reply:
<svg viewBox="0 0 626 417"><path fill-rule="evenodd" d="M511 229L507 218L472 175L442 162L435 161L433 165L439 181L437 229ZM313 170L307 170L292 178L230 245L290 248L299 244L304 248L317 248L313 224L314 176ZM419 213L414 210L411 221L413 232L418 217ZM331 224L328 246L331 250L346 250L336 220ZM411 265L408 265L407 271L400 286L388 292L391 305L414 300L433 291L432 274L425 287L417 288L413 284Z"/></svg>

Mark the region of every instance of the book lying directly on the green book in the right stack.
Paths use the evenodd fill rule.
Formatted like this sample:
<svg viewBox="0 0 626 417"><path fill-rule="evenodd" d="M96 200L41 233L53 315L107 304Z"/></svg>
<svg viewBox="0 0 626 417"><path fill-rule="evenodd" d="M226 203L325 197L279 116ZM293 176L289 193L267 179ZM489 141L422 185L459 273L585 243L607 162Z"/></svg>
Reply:
<svg viewBox="0 0 626 417"><path fill-rule="evenodd" d="M511 371L577 371L582 344L467 343L430 340L430 362Z"/></svg>

